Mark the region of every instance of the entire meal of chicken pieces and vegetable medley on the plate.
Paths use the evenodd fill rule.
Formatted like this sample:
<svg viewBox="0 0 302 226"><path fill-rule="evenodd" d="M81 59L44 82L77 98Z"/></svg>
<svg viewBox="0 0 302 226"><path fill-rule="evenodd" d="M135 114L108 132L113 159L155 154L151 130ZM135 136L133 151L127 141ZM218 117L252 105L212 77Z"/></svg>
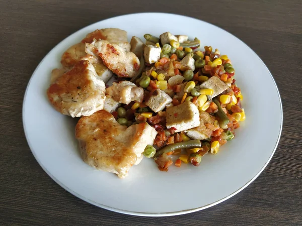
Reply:
<svg viewBox="0 0 302 226"><path fill-rule="evenodd" d="M143 156L161 171L173 162L198 166L246 119L228 56L187 35L143 37L89 33L65 51L47 90L55 109L81 117L75 137L84 161L120 178Z"/></svg>

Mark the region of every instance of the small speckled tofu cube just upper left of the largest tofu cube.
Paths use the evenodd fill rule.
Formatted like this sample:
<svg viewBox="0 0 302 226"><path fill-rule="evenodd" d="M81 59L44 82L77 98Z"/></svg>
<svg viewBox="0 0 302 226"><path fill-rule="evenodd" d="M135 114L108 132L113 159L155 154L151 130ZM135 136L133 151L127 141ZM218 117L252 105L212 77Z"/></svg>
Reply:
<svg viewBox="0 0 302 226"><path fill-rule="evenodd" d="M163 110L168 103L172 102L172 98L163 90L156 89L145 104L154 112Z"/></svg>

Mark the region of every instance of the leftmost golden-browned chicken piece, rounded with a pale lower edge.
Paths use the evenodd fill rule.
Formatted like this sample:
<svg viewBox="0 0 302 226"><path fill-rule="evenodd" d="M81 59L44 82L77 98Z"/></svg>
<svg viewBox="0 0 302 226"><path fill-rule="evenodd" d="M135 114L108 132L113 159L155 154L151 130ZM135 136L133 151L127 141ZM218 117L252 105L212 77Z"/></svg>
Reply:
<svg viewBox="0 0 302 226"><path fill-rule="evenodd" d="M93 65L82 60L50 85L47 96L63 115L90 116L103 109L105 88Z"/></svg>

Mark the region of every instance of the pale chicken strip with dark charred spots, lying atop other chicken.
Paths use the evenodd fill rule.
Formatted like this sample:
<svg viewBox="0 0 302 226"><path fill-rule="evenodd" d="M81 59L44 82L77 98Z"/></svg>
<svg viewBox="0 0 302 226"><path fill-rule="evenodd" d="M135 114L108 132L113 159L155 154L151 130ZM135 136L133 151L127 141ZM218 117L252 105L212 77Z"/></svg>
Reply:
<svg viewBox="0 0 302 226"><path fill-rule="evenodd" d="M139 69L139 60L132 52L126 52L117 44L111 44L106 40L94 40L86 45L87 51L99 55L106 67L119 77L132 78Z"/></svg>

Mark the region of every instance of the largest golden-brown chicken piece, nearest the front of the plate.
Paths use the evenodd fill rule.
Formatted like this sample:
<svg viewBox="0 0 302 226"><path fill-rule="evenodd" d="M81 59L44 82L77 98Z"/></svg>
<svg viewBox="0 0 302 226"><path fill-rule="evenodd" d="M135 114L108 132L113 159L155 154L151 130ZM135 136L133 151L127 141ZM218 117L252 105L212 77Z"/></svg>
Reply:
<svg viewBox="0 0 302 226"><path fill-rule="evenodd" d="M106 110L82 117L75 127L83 160L120 178L140 162L142 152L147 145L153 145L156 135L156 130L146 123L122 126Z"/></svg>

